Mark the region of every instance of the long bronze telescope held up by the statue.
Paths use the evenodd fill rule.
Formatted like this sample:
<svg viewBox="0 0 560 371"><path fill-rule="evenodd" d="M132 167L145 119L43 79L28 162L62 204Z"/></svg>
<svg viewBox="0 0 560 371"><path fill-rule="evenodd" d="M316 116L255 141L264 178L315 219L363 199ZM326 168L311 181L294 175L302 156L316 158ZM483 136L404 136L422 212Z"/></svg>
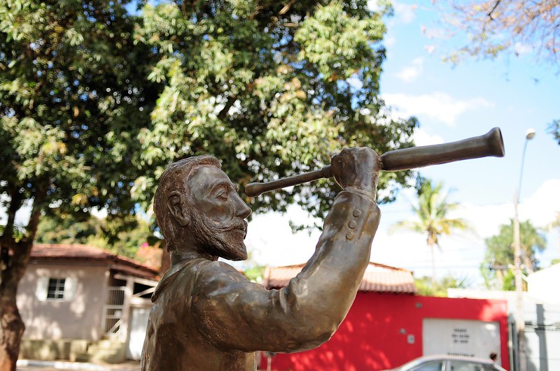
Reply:
<svg viewBox="0 0 560 371"><path fill-rule="evenodd" d="M499 128L493 128L482 136L475 136L456 142L439 145L422 145L403 150L385 152L379 157L381 170L396 171L422 168L453 161L478 159L480 157L503 157L503 138ZM312 182L323 177L332 177L330 165L319 170L310 171L271 182L254 182L245 187L247 196L258 196L274 189L281 189L297 184Z"/></svg>

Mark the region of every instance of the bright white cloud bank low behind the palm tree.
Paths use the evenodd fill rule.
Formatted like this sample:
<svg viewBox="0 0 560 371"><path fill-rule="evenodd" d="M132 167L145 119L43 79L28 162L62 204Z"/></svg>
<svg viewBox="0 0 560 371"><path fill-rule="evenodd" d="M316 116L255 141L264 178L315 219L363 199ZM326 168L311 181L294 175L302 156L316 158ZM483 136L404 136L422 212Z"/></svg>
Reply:
<svg viewBox="0 0 560 371"><path fill-rule="evenodd" d="M560 210L560 179L544 182L535 194L521 200L519 204L519 219L530 220L533 226L544 228ZM414 199L412 191L405 190L405 198ZM512 195L513 199L513 195ZM402 207L400 207L402 208ZM426 246L426 239L420 233L413 233L404 229L390 233L391 220L384 223L383 215L393 217L394 210L390 206L381 205L381 225L375 235L372 247L372 261L413 270L416 277L431 275L430 250ZM463 204L456 211L454 217L466 219L474 232L454 233L442 236L442 249L435 249L437 277L452 273L455 277L471 277L479 282L479 265L484 261L486 245L484 238L489 238L499 232L502 224L508 224L513 217L512 203L500 205L470 205ZM402 215L401 220L412 219L412 214ZM552 235L553 233L549 233ZM552 249L552 238L549 238L549 249ZM554 255L554 254L552 254ZM552 256L551 255L551 256ZM543 266L549 261L542 260Z"/></svg>

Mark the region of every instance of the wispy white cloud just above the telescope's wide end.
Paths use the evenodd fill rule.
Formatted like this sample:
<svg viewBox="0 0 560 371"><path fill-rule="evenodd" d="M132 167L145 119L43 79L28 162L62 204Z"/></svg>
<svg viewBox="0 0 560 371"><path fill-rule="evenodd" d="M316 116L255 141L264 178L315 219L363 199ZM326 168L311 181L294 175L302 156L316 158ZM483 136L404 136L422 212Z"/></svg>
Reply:
<svg viewBox="0 0 560 371"><path fill-rule="evenodd" d="M493 103L484 98L454 99L448 94L434 92L431 94L382 94L389 105L398 109L401 117L426 116L440 122L454 125L457 117L469 110L493 107Z"/></svg>

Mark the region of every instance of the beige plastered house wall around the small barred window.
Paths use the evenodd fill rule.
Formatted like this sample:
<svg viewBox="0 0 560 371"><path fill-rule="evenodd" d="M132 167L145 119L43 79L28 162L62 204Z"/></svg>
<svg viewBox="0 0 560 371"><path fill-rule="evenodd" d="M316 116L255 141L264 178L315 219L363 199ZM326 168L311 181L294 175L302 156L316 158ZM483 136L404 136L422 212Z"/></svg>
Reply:
<svg viewBox="0 0 560 371"><path fill-rule="evenodd" d="M18 289L18 307L26 326L24 338L99 340L108 275L106 264L94 262L29 264ZM39 277L75 278L73 297L71 300L38 298Z"/></svg>

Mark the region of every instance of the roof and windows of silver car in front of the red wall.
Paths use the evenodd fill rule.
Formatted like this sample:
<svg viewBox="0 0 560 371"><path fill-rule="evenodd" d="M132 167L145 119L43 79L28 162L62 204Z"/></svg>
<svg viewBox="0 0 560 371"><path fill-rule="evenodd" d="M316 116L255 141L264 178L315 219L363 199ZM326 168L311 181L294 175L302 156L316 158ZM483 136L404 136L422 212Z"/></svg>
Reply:
<svg viewBox="0 0 560 371"><path fill-rule="evenodd" d="M423 356L394 368L399 371L505 371L488 358Z"/></svg>

